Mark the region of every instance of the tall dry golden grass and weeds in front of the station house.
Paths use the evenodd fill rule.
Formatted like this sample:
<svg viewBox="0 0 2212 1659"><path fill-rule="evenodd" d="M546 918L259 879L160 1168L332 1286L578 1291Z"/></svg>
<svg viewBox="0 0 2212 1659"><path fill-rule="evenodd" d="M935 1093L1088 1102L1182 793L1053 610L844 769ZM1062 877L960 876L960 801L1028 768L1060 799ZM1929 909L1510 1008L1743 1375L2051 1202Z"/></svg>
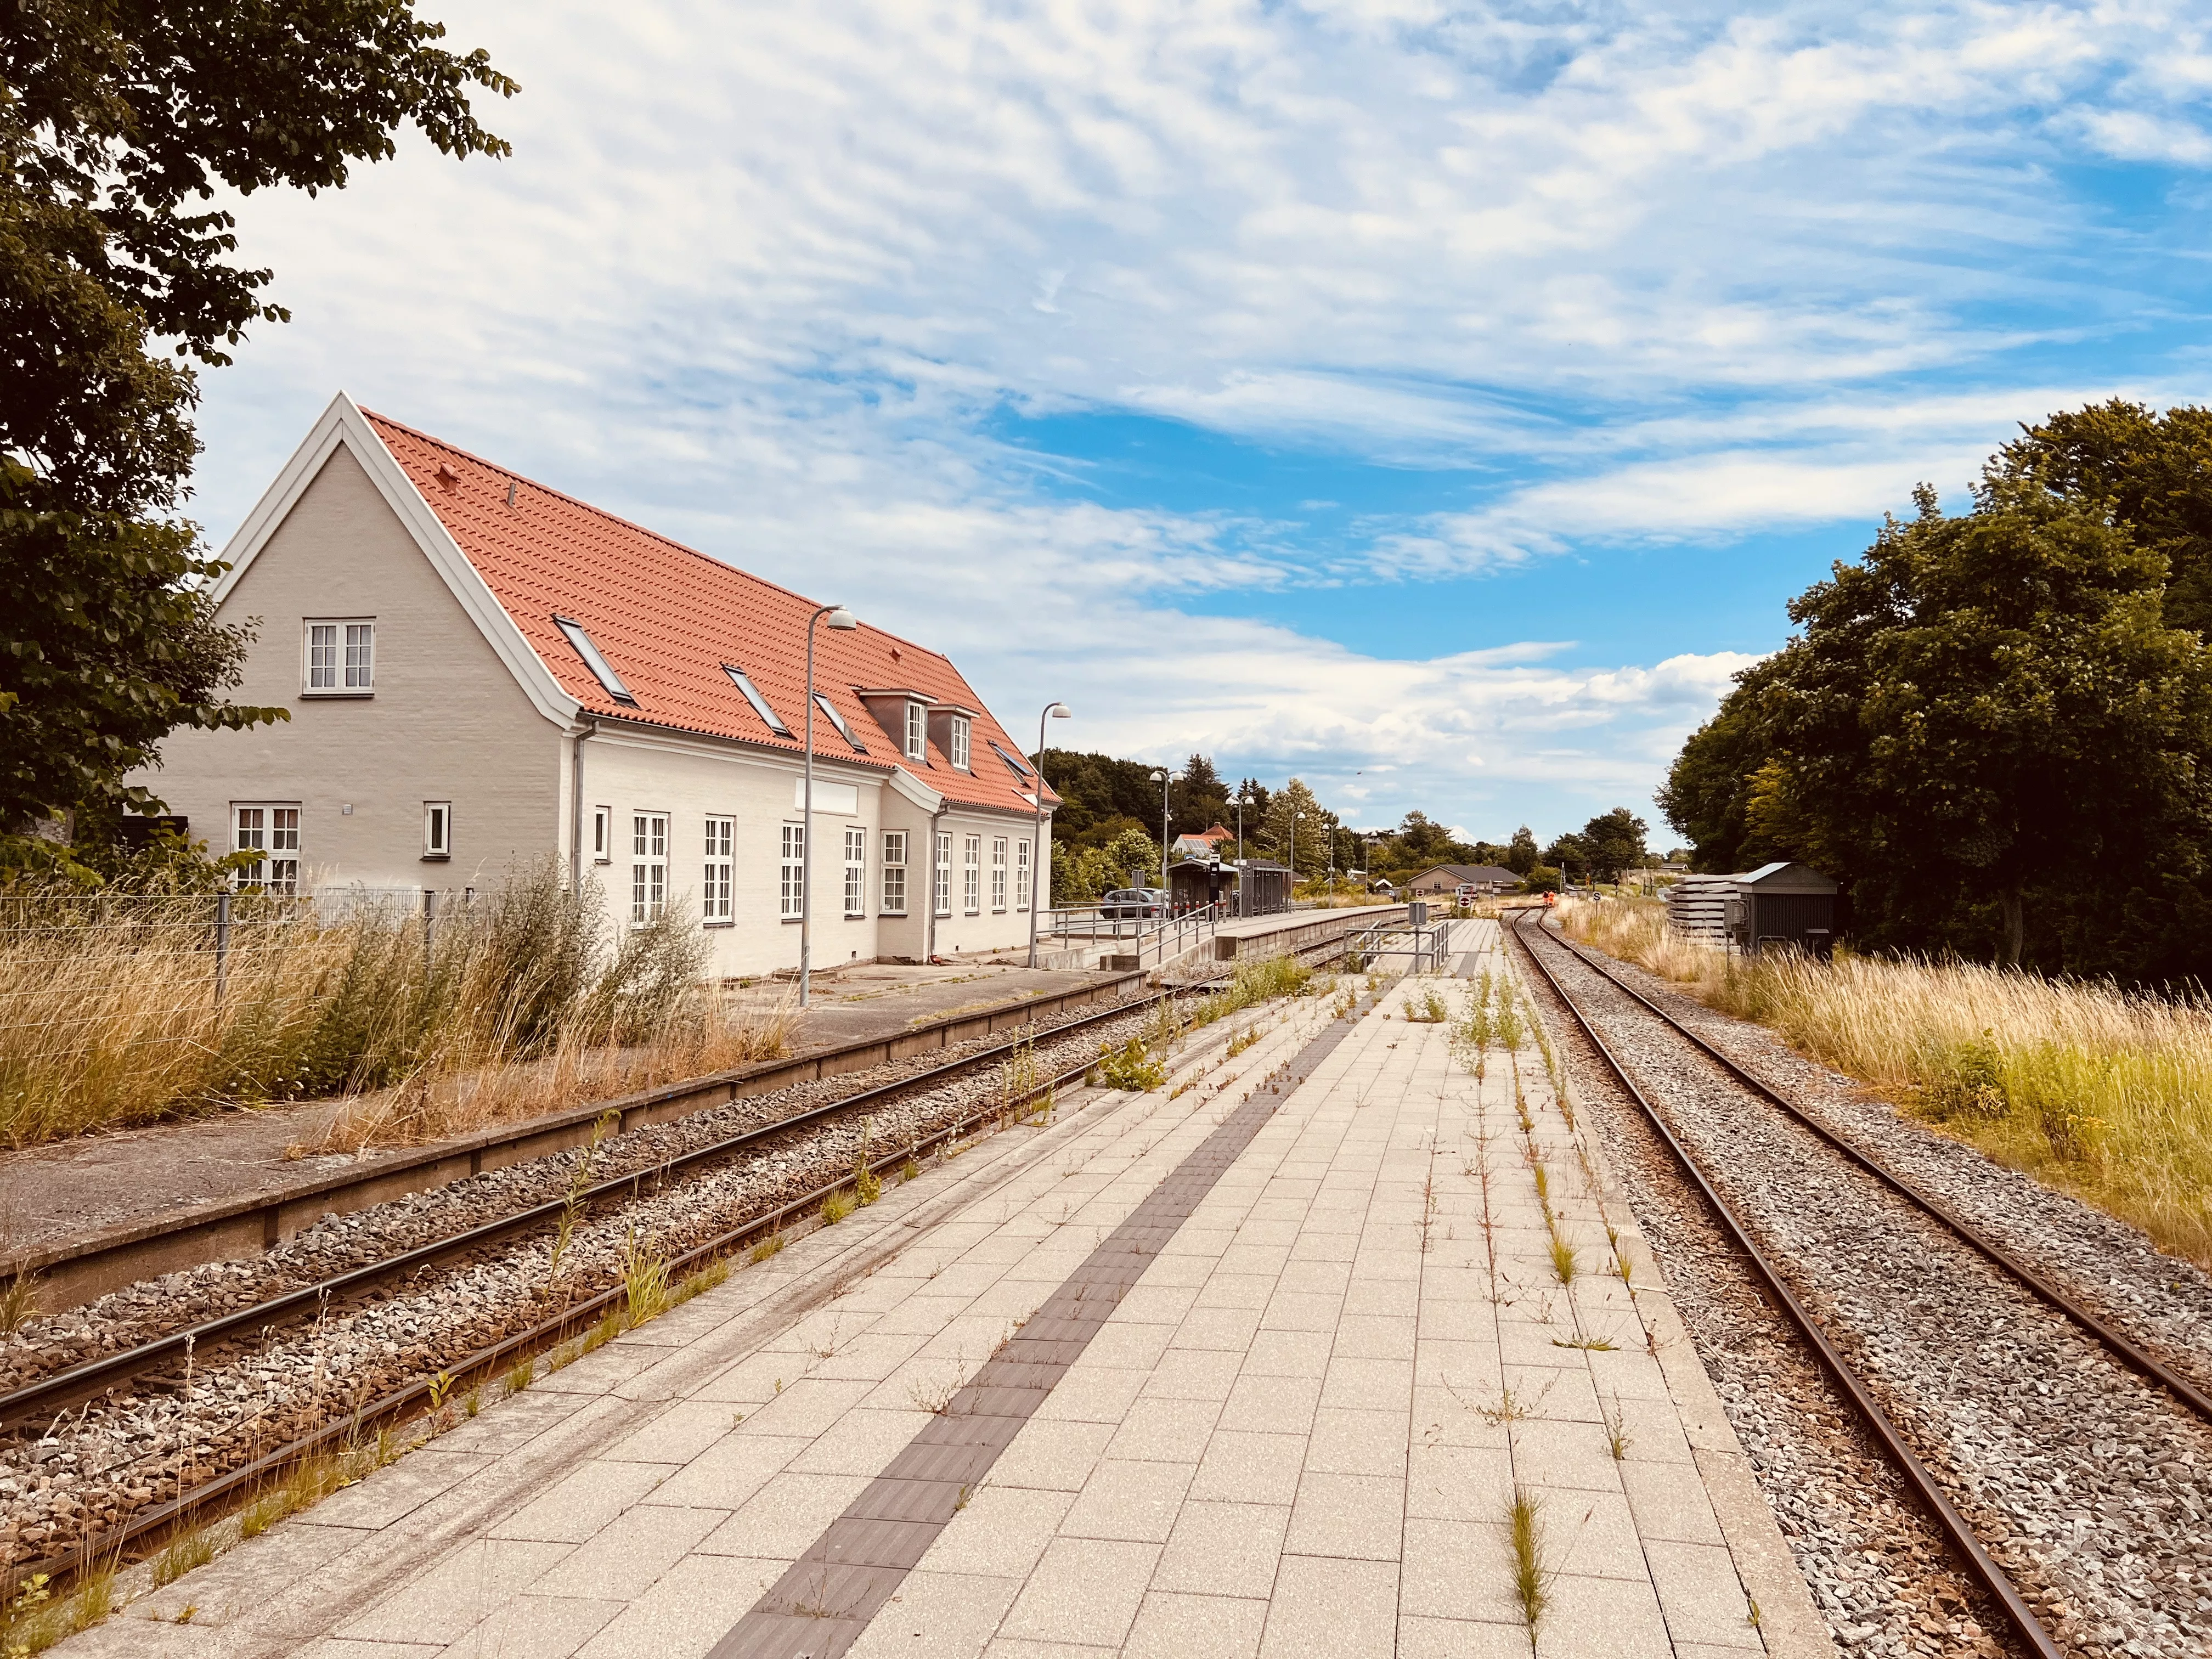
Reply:
<svg viewBox="0 0 2212 1659"><path fill-rule="evenodd" d="M670 916L604 938L551 865L425 925L243 898L217 993L212 900L0 900L0 1144L367 1095L338 1141L422 1139L779 1053L728 1020Z"/></svg>

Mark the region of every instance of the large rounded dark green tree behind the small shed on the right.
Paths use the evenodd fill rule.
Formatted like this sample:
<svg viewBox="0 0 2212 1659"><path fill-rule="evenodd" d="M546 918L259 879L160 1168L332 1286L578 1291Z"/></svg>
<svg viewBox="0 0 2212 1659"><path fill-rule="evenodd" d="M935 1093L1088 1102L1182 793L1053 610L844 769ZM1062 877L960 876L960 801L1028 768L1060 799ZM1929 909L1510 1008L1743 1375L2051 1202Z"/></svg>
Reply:
<svg viewBox="0 0 2212 1659"><path fill-rule="evenodd" d="M1878 945L2128 978L2205 962L2212 655L2104 498L2000 458L1792 602L1661 805L1701 867L1805 858Z"/></svg>

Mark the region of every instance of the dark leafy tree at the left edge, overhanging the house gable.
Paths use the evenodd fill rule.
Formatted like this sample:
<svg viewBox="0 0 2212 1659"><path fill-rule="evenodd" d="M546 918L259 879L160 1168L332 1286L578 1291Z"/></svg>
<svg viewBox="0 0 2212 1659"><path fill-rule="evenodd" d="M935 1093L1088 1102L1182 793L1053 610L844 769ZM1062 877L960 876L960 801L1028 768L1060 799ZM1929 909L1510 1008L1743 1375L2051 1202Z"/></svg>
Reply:
<svg viewBox="0 0 2212 1659"><path fill-rule="evenodd" d="M190 361L285 316L206 204L341 188L407 122L502 155L467 91L515 86L442 33L409 0L29 0L0 27L0 834L157 810L122 774L161 734L279 717L219 697L246 639L175 518Z"/></svg>

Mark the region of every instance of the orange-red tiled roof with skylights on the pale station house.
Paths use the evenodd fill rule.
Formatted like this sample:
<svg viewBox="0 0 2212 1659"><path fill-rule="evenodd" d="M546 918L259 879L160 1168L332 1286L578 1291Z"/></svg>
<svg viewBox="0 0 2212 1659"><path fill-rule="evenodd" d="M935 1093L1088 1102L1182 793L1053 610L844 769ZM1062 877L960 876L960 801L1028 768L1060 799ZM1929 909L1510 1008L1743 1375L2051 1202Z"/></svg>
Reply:
<svg viewBox="0 0 2212 1659"><path fill-rule="evenodd" d="M602 513L504 467L414 427L363 409L392 458L422 491L438 522L513 617L562 690L588 712L684 732L732 737L770 750L803 752L807 599L732 564ZM513 493L513 507L509 507ZM584 624L637 708L617 703L553 626ZM723 672L743 668L768 706L792 728L776 737ZM971 772L956 772L929 743L929 765L909 763L856 690L909 688L938 703L978 710ZM854 754L836 728L814 721L814 754L889 772L902 768L951 801L1026 812L1026 781L991 745L1026 763L1026 750L984 710L951 661L863 622L854 633L814 630L814 690L823 692L867 745ZM1046 801L1055 801L1046 792Z"/></svg>

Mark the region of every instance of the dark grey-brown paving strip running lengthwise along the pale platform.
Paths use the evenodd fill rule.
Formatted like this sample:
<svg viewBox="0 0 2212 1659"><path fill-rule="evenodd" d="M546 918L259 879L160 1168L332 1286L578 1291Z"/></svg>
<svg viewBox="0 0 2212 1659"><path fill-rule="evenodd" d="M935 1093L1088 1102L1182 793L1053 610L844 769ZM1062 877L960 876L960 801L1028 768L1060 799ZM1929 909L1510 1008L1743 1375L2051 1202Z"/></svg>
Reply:
<svg viewBox="0 0 2212 1659"><path fill-rule="evenodd" d="M836 1659L922 1559L964 1495L1068 1374L1130 1285L1212 1192L1276 1106L1358 1024L1332 1020L1292 1057L1283 1079L1230 1113L1146 1194L1084 1265L975 1371L852 1506L830 1522L708 1659Z"/></svg>

